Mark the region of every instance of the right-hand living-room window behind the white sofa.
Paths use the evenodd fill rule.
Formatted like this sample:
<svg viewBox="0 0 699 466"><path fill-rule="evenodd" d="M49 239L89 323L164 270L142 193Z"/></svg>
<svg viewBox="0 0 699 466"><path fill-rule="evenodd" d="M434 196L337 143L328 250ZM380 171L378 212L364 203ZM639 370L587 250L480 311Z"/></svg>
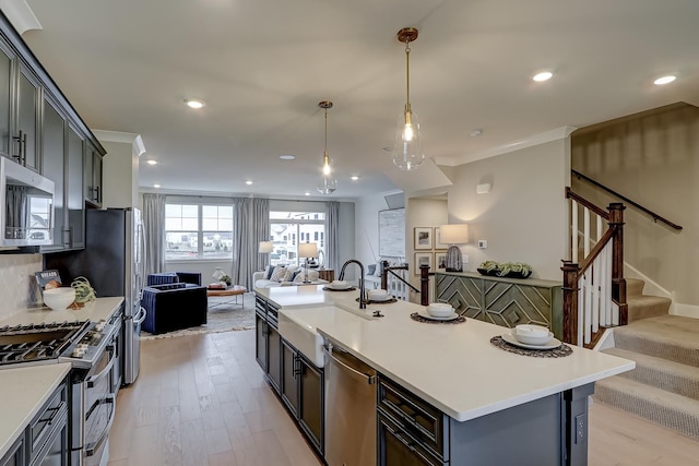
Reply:
<svg viewBox="0 0 699 466"><path fill-rule="evenodd" d="M270 254L272 265L299 265L305 258L298 256L299 242L318 244L325 253L325 214L323 212L270 212L270 241L274 251Z"/></svg>

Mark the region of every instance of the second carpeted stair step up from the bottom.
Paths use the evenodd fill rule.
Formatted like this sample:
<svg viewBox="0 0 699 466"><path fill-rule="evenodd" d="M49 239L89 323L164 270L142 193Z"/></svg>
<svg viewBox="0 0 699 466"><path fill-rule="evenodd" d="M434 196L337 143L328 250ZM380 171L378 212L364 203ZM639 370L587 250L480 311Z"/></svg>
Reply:
<svg viewBox="0 0 699 466"><path fill-rule="evenodd" d="M621 348L609 348L602 353L636 361L636 369L620 377L699 399L699 368Z"/></svg>

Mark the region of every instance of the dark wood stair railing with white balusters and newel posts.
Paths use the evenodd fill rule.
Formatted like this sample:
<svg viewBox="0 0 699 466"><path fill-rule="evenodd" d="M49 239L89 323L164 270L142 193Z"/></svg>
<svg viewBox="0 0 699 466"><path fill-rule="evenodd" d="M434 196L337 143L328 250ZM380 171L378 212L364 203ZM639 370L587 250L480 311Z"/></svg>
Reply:
<svg viewBox="0 0 699 466"><path fill-rule="evenodd" d="M624 210L621 203L601 210L566 189L571 200L571 260L564 260L564 342L592 347L605 327L626 325L626 280L624 279ZM583 208L583 254L578 264L578 208ZM590 250L590 214L597 216L596 243ZM602 232L602 220L608 223Z"/></svg>

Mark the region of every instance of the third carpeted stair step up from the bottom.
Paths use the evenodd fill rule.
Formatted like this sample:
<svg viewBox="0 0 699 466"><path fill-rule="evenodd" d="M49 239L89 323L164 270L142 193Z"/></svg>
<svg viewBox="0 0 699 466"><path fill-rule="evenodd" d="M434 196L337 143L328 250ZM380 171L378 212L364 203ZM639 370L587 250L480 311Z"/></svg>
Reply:
<svg viewBox="0 0 699 466"><path fill-rule="evenodd" d="M699 367L699 319L660 315L614 328L617 348Z"/></svg>

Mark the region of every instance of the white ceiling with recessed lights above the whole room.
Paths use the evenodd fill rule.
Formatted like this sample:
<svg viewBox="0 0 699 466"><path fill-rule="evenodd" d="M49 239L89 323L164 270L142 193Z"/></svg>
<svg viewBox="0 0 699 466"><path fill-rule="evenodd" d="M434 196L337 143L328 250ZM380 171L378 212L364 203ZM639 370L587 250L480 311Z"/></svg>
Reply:
<svg viewBox="0 0 699 466"><path fill-rule="evenodd" d="M699 101L696 0L27 3L43 29L23 37L86 123L142 135L143 190L316 196L324 99L334 103L331 198L395 189L398 168L382 148L393 145L405 103L395 38L404 26L419 29L411 101L438 165L566 126ZM554 77L532 82L545 69ZM677 81L652 84L667 73ZM183 105L194 97L206 106ZM471 136L474 129L483 134ZM406 176L419 180L420 170Z"/></svg>

